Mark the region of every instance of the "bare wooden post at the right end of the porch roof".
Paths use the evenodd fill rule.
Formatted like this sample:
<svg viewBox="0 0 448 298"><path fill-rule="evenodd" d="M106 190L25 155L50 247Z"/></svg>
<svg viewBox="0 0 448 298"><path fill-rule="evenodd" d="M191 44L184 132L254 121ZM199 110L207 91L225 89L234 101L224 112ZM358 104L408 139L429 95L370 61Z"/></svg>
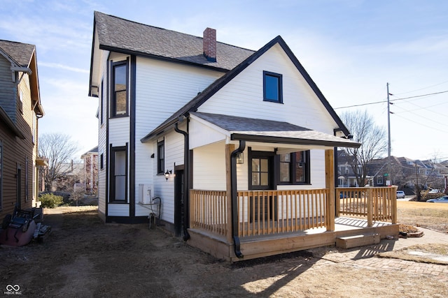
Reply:
<svg viewBox="0 0 448 298"><path fill-rule="evenodd" d="M325 150L325 188L328 189L326 226L327 231L335 230L335 163L334 150Z"/></svg>

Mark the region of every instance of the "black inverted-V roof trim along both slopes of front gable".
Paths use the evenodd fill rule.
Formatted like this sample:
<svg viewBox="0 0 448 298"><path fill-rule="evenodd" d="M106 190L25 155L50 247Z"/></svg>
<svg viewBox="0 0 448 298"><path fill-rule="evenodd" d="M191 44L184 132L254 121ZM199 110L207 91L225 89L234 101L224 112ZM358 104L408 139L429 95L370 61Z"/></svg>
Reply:
<svg viewBox="0 0 448 298"><path fill-rule="evenodd" d="M332 109L330 106L330 103L328 103L328 100L323 96L321 91L318 89L317 85L314 83L313 80L311 80L311 77L307 73L307 71L303 68L302 64L298 61L298 59L295 57L293 52L290 50L288 45L286 45L285 41L281 36L277 36L273 40L271 40L269 43L267 43L264 47L262 47L260 50L255 52L251 55L251 57L248 57L244 61L241 62L237 67L232 69L230 72L226 73L222 77L220 77L218 80L216 80L213 84L209 85L207 89L202 91L200 94L198 94L193 100L191 100L189 103L181 107L177 112L172 114L171 117L169 117L167 120L165 120L160 126L155 128L151 133L148 133L145 137L141 139L141 142L146 142L147 140L151 139L154 135L158 135L162 131L165 131L170 126L174 125L177 121L179 121L179 117L188 116L189 112L196 112L198 107L205 103L211 96L216 94L217 91L219 91L222 87L225 86L228 82L230 82L235 76L237 76L241 71L243 71L245 68L247 68L253 61L258 59L262 54L267 52L271 47L273 47L276 44L279 44L282 49L286 52L290 60L293 62L297 70L299 70L300 74L304 77L304 80L307 81L309 84L309 87L314 91L316 96L319 100L321 100L321 103L325 106L326 110L331 115L332 119L335 120L337 125L339 126L339 129L345 134L349 135L349 130L346 128L346 126L342 123L342 120L339 118L339 116L336 114L335 110Z"/></svg>

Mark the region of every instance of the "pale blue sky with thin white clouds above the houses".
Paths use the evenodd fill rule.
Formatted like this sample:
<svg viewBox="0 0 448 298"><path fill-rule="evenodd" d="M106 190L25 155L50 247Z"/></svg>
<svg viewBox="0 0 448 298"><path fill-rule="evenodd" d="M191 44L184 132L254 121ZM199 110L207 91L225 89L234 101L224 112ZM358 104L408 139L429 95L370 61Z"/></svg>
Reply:
<svg viewBox="0 0 448 298"><path fill-rule="evenodd" d="M367 112L391 155L448 160L448 1L0 0L0 39L36 45L39 134L64 133L73 158L97 146L88 94L94 10L259 50L281 36L337 114ZM385 156L387 156L387 151Z"/></svg>

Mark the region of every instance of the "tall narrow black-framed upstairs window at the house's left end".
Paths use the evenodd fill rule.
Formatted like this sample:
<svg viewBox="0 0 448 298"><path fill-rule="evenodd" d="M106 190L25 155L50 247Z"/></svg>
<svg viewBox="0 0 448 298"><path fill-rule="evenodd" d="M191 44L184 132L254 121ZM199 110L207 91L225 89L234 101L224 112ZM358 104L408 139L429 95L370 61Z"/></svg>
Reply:
<svg viewBox="0 0 448 298"><path fill-rule="evenodd" d="M111 116L127 116L127 61L112 64Z"/></svg>

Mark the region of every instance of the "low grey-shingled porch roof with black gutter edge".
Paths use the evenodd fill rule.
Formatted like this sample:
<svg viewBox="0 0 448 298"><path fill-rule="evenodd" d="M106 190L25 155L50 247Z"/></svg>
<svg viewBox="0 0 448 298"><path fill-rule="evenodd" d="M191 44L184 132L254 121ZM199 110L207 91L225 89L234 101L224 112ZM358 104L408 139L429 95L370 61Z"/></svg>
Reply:
<svg viewBox="0 0 448 298"><path fill-rule="evenodd" d="M360 147L360 143L288 122L201 112L190 112L190 114L228 131L231 140L324 147Z"/></svg>

